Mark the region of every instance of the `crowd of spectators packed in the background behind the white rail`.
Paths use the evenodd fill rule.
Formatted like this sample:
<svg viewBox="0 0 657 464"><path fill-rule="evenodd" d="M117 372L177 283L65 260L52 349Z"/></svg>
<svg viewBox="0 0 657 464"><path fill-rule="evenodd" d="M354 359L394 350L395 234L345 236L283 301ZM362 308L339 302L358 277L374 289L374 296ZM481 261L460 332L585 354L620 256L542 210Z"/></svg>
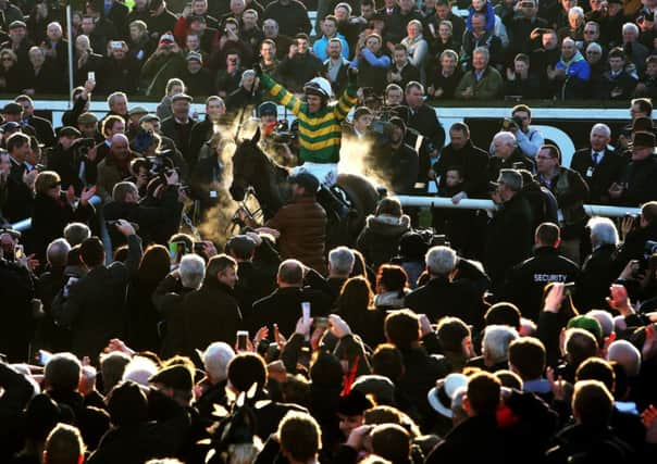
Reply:
<svg viewBox="0 0 657 464"><path fill-rule="evenodd" d="M412 80L435 100L657 95L653 0L474 0L463 14L447 0L169 3L84 3L73 14L75 85L92 73L97 91L159 98L179 77L193 97L226 98L261 63L292 90L322 75L339 91L346 67L358 63L359 86L380 97L387 85ZM0 91L67 92L64 7L3 2Z"/></svg>

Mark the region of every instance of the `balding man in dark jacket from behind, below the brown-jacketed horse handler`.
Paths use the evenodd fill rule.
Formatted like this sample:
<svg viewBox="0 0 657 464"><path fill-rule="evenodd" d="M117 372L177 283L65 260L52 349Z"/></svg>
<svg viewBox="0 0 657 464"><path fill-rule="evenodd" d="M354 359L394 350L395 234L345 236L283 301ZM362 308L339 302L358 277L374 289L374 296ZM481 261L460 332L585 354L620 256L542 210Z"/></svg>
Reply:
<svg viewBox="0 0 657 464"><path fill-rule="evenodd" d="M250 334L268 326L270 336L274 334L273 322L286 337L295 331L301 317L301 303L310 303L311 317L325 316L328 313L328 299L325 293L303 286L306 267L297 260L285 260L278 266L276 283L278 288L272 294L253 303L253 311L248 322Z"/></svg>

